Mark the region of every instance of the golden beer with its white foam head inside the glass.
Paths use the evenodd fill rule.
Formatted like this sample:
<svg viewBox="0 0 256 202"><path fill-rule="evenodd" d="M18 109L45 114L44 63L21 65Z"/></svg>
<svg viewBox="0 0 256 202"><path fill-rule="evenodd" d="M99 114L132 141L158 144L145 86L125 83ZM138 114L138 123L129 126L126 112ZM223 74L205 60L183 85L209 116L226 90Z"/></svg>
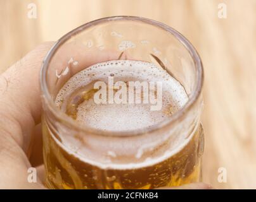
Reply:
<svg viewBox="0 0 256 202"><path fill-rule="evenodd" d="M97 81L161 81L162 108L151 103L94 102ZM157 88L153 91L157 95ZM114 89L117 91L117 89ZM136 92L134 92L134 96ZM107 98L108 93L106 93ZM143 92L139 92L143 100ZM128 96L127 96L128 97ZM108 100L109 101L109 100ZM55 97L56 106L80 127L108 135L68 133L43 120L46 186L54 189L153 189L200 180L202 128L187 134L150 134L188 101L179 81L151 62L117 60L94 64L72 76ZM146 131L127 136L124 132ZM113 132L113 136L109 135ZM118 134L118 135L117 135Z"/></svg>

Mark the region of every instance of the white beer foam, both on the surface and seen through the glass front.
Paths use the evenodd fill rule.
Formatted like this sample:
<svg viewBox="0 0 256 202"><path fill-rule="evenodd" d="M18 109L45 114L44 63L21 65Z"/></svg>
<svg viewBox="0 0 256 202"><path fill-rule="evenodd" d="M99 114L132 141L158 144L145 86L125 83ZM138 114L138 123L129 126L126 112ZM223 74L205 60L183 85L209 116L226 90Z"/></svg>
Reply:
<svg viewBox="0 0 256 202"><path fill-rule="evenodd" d="M77 108L76 121L91 128L104 131L122 132L150 128L151 126L168 119L188 101L188 95L181 83L170 76L165 69L162 69L151 62L117 60L100 62L74 74L56 95L55 104L58 107L61 107L63 100L67 100L72 92L81 86L89 85L93 81L100 80L108 83L108 76L113 76L114 81L162 81L162 109L157 111L150 110L150 103L96 104L93 98L91 98L82 102ZM97 141L96 145L105 152L105 155L112 157L103 159L101 158L102 152L98 155L90 153L85 147L79 145L76 140L73 140L72 137L60 134L60 138L60 146L63 147L63 145L65 145L65 150L68 151L68 153L72 153L82 161L91 163L103 169L109 167L113 169L134 169L135 167L144 167L148 165L148 163L154 162L154 160L143 160L143 162L138 163L115 163L113 156L120 153L121 150L124 151L125 154L131 153L131 155L134 155L134 158L140 158L143 155L143 149L138 151L139 145L136 147L136 145L133 145L130 141L123 144L118 143L117 145L115 145L115 143L109 143L108 145L108 143ZM54 139L56 140L56 138ZM58 140L56 141L58 142ZM90 142L90 140L86 141L87 143ZM157 139L152 139L152 141L155 142L151 144L152 148L160 144L158 144ZM187 141L188 140L186 140L186 142ZM92 140L91 143L94 144L94 140ZM143 148L146 148L146 143L143 141L139 144L141 144ZM182 144L177 143L178 146L175 150L167 151L162 157L155 160L158 162L161 159L164 160L167 157L170 157L173 153L177 153L178 150L181 150L182 145L184 146L184 144L185 141ZM74 145L76 145L75 150ZM109 155L110 153L114 153L115 155ZM95 159L97 161L95 161Z"/></svg>

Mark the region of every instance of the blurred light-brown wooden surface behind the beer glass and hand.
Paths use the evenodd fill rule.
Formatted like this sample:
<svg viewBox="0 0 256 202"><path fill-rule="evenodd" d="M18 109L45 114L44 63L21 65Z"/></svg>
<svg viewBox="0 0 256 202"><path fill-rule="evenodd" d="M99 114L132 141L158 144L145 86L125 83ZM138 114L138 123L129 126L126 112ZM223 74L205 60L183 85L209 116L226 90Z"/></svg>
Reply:
<svg viewBox="0 0 256 202"><path fill-rule="evenodd" d="M217 16L226 3L227 18ZM37 18L27 18L29 3ZM0 0L0 73L37 44L88 21L133 15L162 21L195 45L205 68L203 181L256 188L256 1ZM227 182L217 181L218 169Z"/></svg>

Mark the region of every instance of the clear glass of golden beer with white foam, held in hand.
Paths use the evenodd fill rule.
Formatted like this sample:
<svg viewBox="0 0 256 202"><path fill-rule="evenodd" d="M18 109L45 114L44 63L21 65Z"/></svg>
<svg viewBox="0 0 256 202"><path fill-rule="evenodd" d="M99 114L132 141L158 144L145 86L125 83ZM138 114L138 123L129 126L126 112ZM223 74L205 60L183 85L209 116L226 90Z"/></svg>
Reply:
<svg viewBox="0 0 256 202"><path fill-rule="evenodd" d="M153 189L201 180L202 62L181 33L114 16L61 37L41 71L50 189Z"/></svg>

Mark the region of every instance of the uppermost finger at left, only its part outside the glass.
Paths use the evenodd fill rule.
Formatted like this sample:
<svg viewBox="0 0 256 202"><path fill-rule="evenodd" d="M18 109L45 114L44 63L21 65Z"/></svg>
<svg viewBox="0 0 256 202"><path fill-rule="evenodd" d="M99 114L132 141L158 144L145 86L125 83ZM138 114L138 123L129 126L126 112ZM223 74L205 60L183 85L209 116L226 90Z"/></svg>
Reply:
<svg viewBox="0 0 256 202"><path fill-rule="evenodd" d="M25 152L41 116L39 71L52 45L39 45L0 76L0 126Z"/></svg>

